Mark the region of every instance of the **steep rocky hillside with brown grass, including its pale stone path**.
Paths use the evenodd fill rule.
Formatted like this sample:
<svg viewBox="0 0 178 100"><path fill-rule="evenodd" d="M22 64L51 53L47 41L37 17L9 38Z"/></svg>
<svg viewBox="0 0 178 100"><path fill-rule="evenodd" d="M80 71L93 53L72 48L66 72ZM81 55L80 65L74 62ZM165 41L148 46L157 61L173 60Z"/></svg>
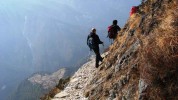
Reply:
<svg viewBox="0 0 178 100"><path fill-rule="evenodd" d="M178 2L147 0L98 69L94 60L54 100L177 100Z"/></svg>

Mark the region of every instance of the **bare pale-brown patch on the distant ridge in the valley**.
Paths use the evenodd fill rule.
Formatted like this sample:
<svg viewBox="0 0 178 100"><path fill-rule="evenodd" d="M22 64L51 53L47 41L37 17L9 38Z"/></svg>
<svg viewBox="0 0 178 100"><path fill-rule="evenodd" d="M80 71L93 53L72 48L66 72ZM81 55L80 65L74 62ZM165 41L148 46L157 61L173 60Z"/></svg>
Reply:
<svg viewBox="0 0 178 100"><path fill-rule="evenodd" d="M65 68L58 70L57 72L52 73L51 75L45 74L35 74L33 77L28 80L32 84L42 85L44 89L51 89L56 86L61 78L64 77L66 70Z"/></svg>

